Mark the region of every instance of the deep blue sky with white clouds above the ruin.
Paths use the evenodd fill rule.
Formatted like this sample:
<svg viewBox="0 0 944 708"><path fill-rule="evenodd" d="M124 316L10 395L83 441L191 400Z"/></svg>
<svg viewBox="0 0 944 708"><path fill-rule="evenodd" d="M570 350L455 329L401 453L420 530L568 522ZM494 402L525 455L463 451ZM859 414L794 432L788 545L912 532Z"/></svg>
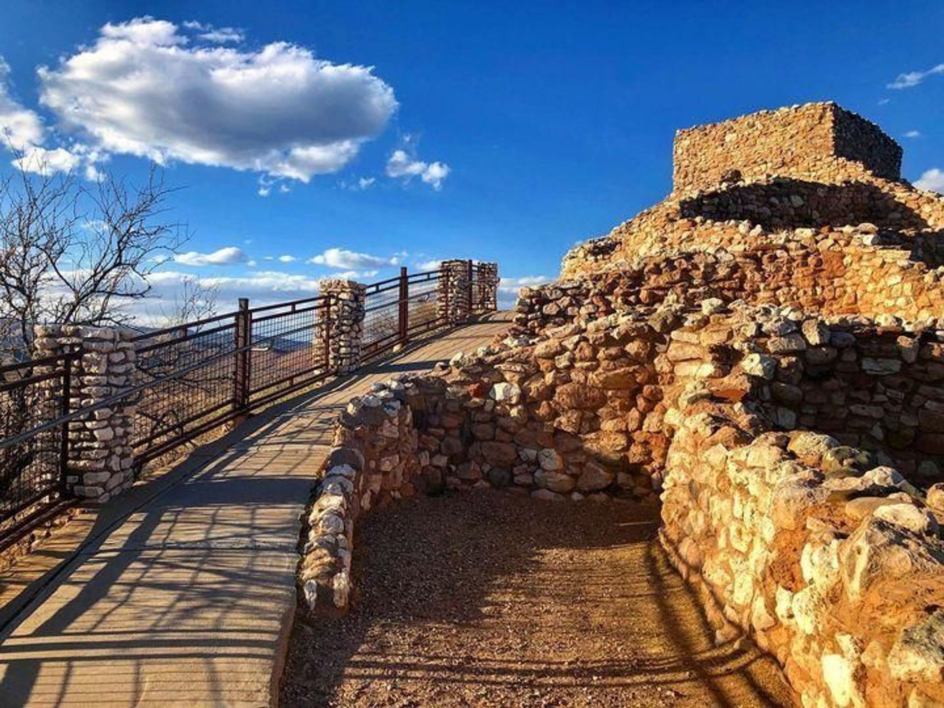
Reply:
<svg viewBox="0 0 944 708"><path fill-rule="evenodd" d="M553 278L670 190L676 128L807 101L879 123L944 190L939 2L8 0L0 20L0 123L46 169L161 160L193 238L159 290L209 278L221 304L452 256L498 261L509 292Z"/></svg>

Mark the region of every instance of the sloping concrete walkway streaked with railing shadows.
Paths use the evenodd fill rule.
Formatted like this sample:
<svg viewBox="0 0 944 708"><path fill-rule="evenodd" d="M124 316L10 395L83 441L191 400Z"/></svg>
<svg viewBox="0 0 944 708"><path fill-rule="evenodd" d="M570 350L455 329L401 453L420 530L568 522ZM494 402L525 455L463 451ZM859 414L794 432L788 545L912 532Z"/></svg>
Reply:
<svg viewBox="0 0 944 708"><path fill-rule="evenodd" d="M262 413L63 527L0 577L0 705L269 704L334 416L507 324L499 313Z"/></svg>

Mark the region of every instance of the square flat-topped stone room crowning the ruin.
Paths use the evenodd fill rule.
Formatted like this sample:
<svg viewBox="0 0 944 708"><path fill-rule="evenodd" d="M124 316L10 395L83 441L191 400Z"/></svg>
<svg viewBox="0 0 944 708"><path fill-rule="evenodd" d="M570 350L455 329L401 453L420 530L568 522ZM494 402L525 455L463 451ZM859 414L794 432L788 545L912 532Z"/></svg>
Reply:
<svg viewBox="0 0 944 708"><path fill-rule="evenodd" d="M735 170L747 179L781 175L837 183L864 172L898 179L902 148L851 111L810 103L679 130L673 167L676 192L716 186Z"/></svg>

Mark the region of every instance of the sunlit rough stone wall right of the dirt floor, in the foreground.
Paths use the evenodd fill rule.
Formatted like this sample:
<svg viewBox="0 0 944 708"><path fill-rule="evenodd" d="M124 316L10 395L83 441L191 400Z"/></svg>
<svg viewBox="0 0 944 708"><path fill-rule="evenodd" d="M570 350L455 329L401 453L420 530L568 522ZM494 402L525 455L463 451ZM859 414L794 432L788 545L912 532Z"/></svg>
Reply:
<svg viewBox="0 0 944 708"><path fill-rule="evenodd" d="M678 417L661 537L718 640L748 633L803 705L944 700L944 509L828 436Z"/></svg>

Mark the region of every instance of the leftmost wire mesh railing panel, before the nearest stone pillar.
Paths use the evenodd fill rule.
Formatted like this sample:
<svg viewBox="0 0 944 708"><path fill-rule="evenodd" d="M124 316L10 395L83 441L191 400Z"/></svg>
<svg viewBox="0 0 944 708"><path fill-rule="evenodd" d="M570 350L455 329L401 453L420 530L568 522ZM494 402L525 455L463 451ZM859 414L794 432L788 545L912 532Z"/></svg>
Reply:
<svg viewBox="0 0 944 708"><path fill-rule="evenodd" d="M69 378L76 355L0 367L0 536L64 492Z"/></svg>

